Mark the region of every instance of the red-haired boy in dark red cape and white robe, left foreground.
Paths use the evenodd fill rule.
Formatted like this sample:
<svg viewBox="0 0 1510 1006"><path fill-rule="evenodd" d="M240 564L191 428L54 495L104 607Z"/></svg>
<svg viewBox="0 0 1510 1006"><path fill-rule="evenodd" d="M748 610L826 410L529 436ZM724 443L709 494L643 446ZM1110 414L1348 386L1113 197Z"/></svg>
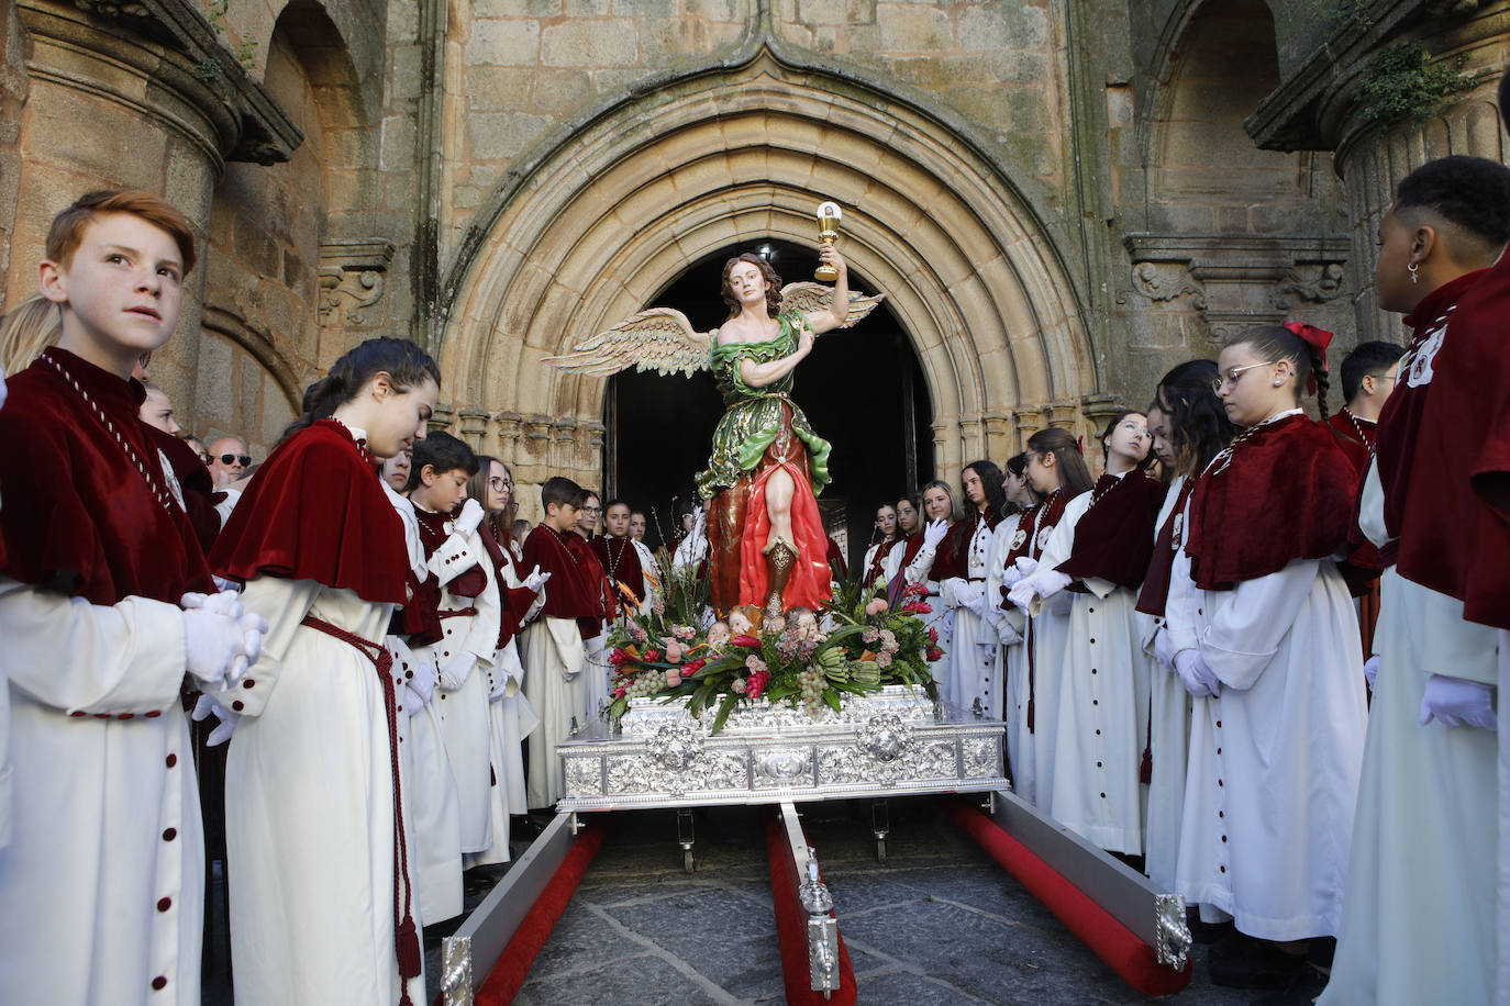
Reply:
<svg viewBox="0 0 1510 1006"><path fill-rule="evenodd" d="M131 371L172 335L192 267L189 223L156 195L97 192L60 213L38 281L62 335L0 413L8 1001L198 994L204 840L180 689L186 671L199 688L234 680L267 624L213 593L168 434L137 418Z"/></svg>

